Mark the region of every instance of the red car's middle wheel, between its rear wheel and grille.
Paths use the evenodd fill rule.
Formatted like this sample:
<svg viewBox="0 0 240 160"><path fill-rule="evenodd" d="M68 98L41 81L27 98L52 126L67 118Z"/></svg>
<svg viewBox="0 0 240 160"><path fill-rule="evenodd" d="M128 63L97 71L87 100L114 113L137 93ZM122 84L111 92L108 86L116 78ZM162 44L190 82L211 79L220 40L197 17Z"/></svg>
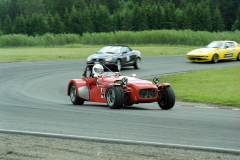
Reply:
<svg viewBox="0 0 240 160"><path fill-rule="evenodd" d="M123 106L123 91L121 86L109 86L106 91L107 104L111 109L119 109Z"/></svg>

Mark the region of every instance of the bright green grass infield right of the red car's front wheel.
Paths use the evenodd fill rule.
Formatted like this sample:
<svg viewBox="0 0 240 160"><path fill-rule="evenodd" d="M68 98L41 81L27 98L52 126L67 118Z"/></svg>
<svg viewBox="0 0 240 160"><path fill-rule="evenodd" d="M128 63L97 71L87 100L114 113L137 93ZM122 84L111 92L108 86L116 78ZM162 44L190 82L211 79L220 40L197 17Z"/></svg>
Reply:
<svg viewBox="0 0 240 160"><path fill-rule="evenodd" d="M240 107L240 66L161 76L180 101Z"/></svg>

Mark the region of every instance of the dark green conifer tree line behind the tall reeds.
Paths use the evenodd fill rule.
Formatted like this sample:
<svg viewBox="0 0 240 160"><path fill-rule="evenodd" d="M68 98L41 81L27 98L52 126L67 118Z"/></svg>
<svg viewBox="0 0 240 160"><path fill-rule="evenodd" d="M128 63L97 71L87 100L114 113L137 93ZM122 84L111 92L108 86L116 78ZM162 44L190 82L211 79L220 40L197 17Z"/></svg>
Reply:
<svg viewBox="0 0 240 160"><path fill-rule="evenodd" d="M239 0L0 0L0 35L240 30Z"/></svg>

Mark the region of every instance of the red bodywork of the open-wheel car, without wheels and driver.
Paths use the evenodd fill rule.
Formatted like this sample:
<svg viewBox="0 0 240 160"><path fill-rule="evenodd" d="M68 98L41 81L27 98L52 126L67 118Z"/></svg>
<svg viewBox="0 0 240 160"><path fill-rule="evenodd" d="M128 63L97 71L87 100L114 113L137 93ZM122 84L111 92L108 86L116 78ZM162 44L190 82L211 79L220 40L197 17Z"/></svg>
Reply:
<svg viewBox="0 0 240 160"><path fill-rule="evenodd" d="M118 83L118 81L123 77L128 79L128 83L126 85ZM168 83L156 85L148 80L112 74L102 75L98 78L84 77L80 79L72 79L68 83L68 95L70 94L71 84L75 84L78 97L84 99L85 101L101 103L106 103L106 91L109 86L122 86L125 105L156 102L158 98L158 89L169 86Z"/></svg>

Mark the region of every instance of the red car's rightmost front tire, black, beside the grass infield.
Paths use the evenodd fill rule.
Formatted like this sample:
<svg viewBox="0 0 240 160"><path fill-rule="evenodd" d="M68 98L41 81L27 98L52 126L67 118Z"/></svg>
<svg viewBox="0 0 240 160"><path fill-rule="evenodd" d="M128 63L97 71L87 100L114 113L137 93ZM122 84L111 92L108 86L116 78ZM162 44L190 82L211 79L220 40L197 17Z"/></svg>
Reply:
<svg viewBox="0 0 240 160"><path fill-rule="evenodd" d="M175 93L171 86L159 90L158 105L163 110L171 109L175 104Z"/></svg>

